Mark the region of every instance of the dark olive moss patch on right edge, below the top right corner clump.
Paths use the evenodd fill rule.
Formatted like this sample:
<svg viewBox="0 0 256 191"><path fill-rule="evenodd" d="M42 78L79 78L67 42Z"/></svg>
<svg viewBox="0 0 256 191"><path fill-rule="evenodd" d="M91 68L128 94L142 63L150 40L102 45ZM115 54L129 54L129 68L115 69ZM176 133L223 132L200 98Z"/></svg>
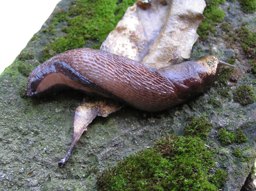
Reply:
<svg viewBox="0 0 256 191"><path fill-rule="evenodd" d="M247 23L236 29L238 36L240 37L241 46L244 49L247 57L256 57L256 32L247 28Z"/></svg>

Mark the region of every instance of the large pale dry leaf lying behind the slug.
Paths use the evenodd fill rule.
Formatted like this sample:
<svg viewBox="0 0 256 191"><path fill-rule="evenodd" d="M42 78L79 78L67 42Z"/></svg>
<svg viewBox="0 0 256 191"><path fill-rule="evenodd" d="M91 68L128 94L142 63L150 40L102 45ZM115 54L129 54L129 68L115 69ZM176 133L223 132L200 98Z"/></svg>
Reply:
<svg viewBox="0 0 256 191"><path fill-rule="evenodd" d="M204 0L143 2L127 9L101 50L151 68L166 66L175 52L189 58L198 38L196 30L204 19Z"/></svg>

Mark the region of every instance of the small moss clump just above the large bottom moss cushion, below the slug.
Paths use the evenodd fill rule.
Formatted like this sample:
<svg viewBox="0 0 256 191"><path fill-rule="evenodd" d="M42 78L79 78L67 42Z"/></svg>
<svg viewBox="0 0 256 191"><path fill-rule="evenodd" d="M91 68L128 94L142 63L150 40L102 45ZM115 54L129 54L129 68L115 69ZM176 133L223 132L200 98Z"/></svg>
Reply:
<svg viewBox="0 0 256 191"><path fill-rule="evenodd" d="M199 137L205 140L213 127L213 124L206 120L206 115L203 114L200 118L189 117L188 120L190 122L184 129L184 135Z"/></svg>

